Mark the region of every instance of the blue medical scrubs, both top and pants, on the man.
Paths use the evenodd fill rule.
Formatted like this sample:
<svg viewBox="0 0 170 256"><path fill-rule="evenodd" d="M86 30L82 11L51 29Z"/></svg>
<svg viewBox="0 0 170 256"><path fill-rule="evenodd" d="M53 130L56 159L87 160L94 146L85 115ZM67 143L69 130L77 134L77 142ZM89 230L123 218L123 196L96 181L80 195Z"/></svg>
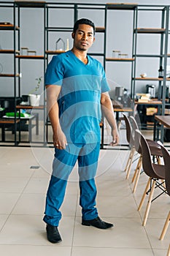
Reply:
<svg viewBox="0 0 170 256"><path fill-rule="evenodd" d="M44 221L58 226L66 184L76 162L79 167L82 219L95 219L98 217L94 177L101 138L100 100L101 93L109 91L104 68L90 56L88 64L84 64L69 50L53 56L47 66L45 84L61 86L59 118L68 145L63 150L55 148Z"/></svg>

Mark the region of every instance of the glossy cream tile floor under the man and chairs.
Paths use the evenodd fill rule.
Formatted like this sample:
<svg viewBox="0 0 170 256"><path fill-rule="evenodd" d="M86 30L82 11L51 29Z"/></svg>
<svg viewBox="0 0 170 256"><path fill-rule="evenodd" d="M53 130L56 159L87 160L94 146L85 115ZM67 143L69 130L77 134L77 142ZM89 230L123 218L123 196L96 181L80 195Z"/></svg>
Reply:
<svg viewBox="0 0 170 256"><path fill-rule="evenodd" d="M137 206L147 177L141 175L134 195L131 178L136 162L128 181L123 171L128 154L129 151L101 150L98 163L99 215L115 227L98 230L81 225L75 167L62 206L59 230L63 241L50 244L42 217L53 149L0 147L0 255L166 256L170 227L163 241L159 236L169 212L170 197L162 195L152 203L147 225L142 227L144 207L139 213Z"/></svg>

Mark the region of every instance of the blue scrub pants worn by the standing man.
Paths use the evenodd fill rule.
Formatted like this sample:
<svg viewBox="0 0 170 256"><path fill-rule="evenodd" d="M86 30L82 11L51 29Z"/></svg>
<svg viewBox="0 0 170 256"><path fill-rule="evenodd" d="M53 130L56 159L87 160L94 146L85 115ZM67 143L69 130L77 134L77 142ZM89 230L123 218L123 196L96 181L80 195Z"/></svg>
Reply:
<svg viewBox="0 0 170 256"><path fill-rule="evenodd" d="M82 219L89 220L98 217L96 209L96 184L94 177L98 165L100 143L69 144L66 150L55 148L53 173L47 190L44 221L58 226L61 220L61 204L66 192L69 174L78 161L80 184L80 206Z"/></svg>

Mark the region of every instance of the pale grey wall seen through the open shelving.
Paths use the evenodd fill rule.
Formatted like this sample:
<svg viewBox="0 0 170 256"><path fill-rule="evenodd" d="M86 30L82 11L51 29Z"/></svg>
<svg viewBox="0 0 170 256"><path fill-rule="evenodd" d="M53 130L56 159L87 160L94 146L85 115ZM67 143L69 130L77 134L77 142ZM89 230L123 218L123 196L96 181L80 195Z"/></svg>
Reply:
<svg viewBox="0 0 170 256"><path fill-rule="evenodd" d="M55 1L50 1L55 2ZM74 3L75 1L60 1L61 3ZM77 3L98 3L105 4L108 1L80 1ZM120 2L120 1L114 1ZM121 1L126 2L126 1ZM133 3L134 1L128 1ZM138 4L170 4L169 0L145 0L136 1ZM79 18L86 17L96 23L96 26L104 26L104 12L96 12L94 10L81 10ZM20 14L21 28L20 28L20 47L28 47L30 50L36 50L37 55L43 55L43 11L41 9L23 8ZM12 11L7 8L0 9L0 21L9 21L13 23ZM52 12L50 24L53 26L73 26L74 16L71 10L59 10ZM131 57L132 49L132 24L133 12L109 10L107 20L107 57L112 56L112 50L121 50L122 53L128 53ZM142 12L139 14L139 27L161 27L161 15L158 12ZM71 33L53 33L50 36L50 49L55 50L55 41L62 37L65 41L69 38L69 45L72 48ZM158 54L160 50L160 35L139 35L138 53L155 53ZM102 52L103 50L103 34L96 34L96 42L91 48L90 52ZM0 45L1 48L12 48L12 31L0 31ZM169 49L170 52L170 49ZM102 58L98 58L102 62ZM11 72L13 67L12 56L0 55L0 63L3 64L4 72ZM136 75L139 76L142 72L146 72L148 76L157 77L159 68L159 59L140 59L136 62ZM21 94L28 94L31 89L35 87L35 78L43 75L43 61L42 60L21 60L21 72L23 77L21 79ZM108 62L106 65L107 78L110 81L111 88L114 86L123 86L130 89L131 86L131 63ZM12 96L13 78L0 79L0 96ZM156 82L157 83L157 82ZM157 85L154 83L155 85ZM136 84L136 91L144 91L147 83L139 82Z"/></svg>

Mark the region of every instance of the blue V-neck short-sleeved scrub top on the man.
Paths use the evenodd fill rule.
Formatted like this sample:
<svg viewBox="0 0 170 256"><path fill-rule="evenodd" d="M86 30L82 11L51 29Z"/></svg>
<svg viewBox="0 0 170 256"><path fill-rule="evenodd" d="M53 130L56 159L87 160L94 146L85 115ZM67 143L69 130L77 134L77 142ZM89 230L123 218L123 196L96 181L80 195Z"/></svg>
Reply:
<svg viewBox="0 0 170 256"><path fill-rule="evenodd" d="M71 50L53 56L45 85L61 86L59 117L68 143L100 142L101 93L109 91L101 63L88 56L84 64Z"/></svg>

